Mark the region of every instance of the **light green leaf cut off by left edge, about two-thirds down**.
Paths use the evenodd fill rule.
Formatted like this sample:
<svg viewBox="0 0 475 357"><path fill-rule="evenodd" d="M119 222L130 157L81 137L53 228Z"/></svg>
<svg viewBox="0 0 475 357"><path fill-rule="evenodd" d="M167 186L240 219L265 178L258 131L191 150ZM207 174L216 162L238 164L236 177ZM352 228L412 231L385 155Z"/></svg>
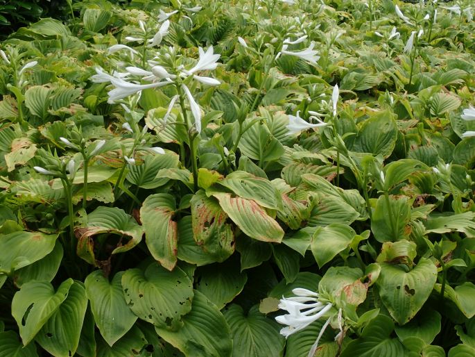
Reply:
<svg viewBox="0 0 475 357"><path fill-rule="evenodd" d="M58 234L13 232L0 234L0 272L10 274L47 256L55 247Z"/></svg>

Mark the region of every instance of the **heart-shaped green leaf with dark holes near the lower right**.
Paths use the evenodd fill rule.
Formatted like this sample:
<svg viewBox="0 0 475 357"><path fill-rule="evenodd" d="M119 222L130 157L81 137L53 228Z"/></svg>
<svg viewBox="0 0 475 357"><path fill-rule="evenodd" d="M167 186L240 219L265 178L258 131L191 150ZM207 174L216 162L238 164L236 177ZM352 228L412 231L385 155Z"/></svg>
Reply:
<svg viewBox="0 0 475 357"><path fill-rule="evenodd" d="M429 299L437 280L437 267L425 258L420 258L411 271L405 265L379 265L381 272L376 285L381 300L391 316L400 325L404 325Z"/></svg>

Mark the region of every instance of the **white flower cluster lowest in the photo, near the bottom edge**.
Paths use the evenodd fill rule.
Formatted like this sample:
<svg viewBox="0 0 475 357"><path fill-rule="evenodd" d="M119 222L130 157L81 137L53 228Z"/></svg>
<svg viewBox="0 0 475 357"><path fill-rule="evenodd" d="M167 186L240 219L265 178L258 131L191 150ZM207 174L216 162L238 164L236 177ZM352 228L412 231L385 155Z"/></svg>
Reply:
<svg viewBox="0 0 475 357"><path fill-rule="evenodd" d="M280 334L285 338L305 329L306 326L325 315L333 306L330 303L325 304L319 301L320 296L317 292L302 288L294 289L292 292L297 296L282 297L279 303L279 308L286 310L288 314L275 317L279 324L288 325L280 330Z"/></svg>

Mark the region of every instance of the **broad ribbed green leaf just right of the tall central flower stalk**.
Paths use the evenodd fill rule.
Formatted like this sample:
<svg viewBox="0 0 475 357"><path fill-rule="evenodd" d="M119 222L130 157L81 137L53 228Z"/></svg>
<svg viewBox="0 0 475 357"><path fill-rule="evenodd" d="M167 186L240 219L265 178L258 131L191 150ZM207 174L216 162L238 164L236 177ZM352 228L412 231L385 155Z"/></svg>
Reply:
<svg viewBox="0 0 475 357"><path fill-rule="evenodd" d="M251 120L245 120L243 126ZM245 156L261 163L278 160L284 154L284 146L269 131L264 122L253 124L239 141L239 149Z"/></svg>

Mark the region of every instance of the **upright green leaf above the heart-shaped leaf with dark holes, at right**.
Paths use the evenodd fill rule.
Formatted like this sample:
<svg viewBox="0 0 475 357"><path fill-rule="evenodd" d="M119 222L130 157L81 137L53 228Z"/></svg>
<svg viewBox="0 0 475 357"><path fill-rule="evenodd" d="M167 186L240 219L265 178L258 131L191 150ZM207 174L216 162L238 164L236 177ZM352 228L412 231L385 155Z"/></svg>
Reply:
<svg viewBox="0 0 475 357"><path fill-rule="evenodd" d="M371 219L371 231L378 242L406 239L411 231L411 203L408 197L379 196Z"/></svg>

